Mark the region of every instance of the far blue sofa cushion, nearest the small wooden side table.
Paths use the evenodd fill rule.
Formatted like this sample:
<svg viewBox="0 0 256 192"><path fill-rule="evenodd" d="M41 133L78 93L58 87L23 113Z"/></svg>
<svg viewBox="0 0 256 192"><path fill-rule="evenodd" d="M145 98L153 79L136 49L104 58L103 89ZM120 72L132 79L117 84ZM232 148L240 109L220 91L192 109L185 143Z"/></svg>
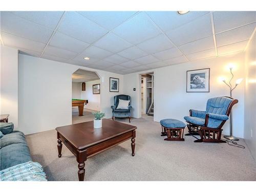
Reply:
<svg viewBox="0 0 256 192"><path fill-rule="evenodd" d="M14 144L14 143L25 143L25 144L27 144L27 142L25 140L25 136L22 132L13 131L10 134L4 135L0 139L0 148L3 148L7 145Z"/></svg>

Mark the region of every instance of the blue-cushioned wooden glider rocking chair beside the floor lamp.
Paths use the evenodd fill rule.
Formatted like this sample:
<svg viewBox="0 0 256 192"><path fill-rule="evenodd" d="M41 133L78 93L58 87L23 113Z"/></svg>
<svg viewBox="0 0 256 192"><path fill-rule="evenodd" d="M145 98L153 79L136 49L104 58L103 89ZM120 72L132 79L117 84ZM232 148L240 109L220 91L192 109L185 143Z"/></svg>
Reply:
<svg viewBox="0 0 256 192"><path fill-rule="evenodd" d="M189 116L184 117L188 122L186 135L200 135L201 139L194 142L225 143L221 140L221 128L236 103L238 100L231 97L215 97L208 99L206 111L189 110Z"/></svg>

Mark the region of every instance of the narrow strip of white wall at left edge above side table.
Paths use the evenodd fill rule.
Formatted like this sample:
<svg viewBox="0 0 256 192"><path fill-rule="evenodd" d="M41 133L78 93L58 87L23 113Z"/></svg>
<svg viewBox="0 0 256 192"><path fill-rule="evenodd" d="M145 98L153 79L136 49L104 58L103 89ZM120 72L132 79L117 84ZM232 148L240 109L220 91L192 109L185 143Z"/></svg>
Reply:
<svg viewBox="0 0 256 192"><path fill-rule="evenodd" d="M1 46L1 114L18 126L18 50Z"/></svg>

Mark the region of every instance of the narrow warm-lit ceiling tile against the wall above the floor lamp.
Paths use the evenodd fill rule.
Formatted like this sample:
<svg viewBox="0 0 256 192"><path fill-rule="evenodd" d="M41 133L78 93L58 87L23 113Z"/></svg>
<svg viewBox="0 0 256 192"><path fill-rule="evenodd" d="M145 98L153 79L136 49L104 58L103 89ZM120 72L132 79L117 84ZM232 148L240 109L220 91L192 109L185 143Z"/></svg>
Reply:
<svg viewBox="0 0 256 192"><path fill-rule="evenodd" d="M228 54L228 53L233 53L233 52L238 52L238 51L244 51L246 45L248 43L248 40L237 42L234 44L230 44L227 46L222 46L218 47L218 55L223 55L223 54Z"/></svg>

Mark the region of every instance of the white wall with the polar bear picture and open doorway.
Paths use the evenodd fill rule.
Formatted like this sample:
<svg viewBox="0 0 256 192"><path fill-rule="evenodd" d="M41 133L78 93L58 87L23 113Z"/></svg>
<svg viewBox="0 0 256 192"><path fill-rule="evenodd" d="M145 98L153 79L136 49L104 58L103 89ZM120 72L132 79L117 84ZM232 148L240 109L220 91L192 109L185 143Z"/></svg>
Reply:
<svg viewBox="0 0 256 192"><path fill-rule="evenodd" d="M153 71L155 74L155 99L154 120L160 121L164 118L176 118L183 120L189 114L189 109L205 110L208 98L217 96L229 96L229 89L219 81L220 76L229 77L228 63L234 63L234 79L244 77L244 53L237 55L218 57L199 61L190 61L179 65L173 65ZM210 92L209 93L186 93L186 71L194 69L210 68ZM124 75L124 94L132 97L132 116L140 117L139 74L132 73ZM233 81L234 83L234 81ZM133 91L136 88L137 91ZM233 107L233 135L244 136L244 81L233 91L233 98L239 103ZM224 134L229 134L229 121L224 125Z"/></svg>

